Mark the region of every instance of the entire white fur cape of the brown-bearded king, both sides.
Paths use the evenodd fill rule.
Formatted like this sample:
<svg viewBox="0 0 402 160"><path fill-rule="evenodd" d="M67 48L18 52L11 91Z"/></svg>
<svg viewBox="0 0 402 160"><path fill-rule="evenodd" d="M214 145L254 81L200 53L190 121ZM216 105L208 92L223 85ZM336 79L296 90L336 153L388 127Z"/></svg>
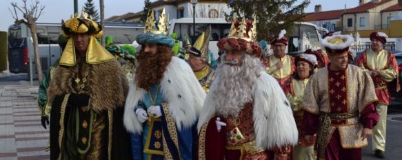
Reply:
<svg viewBox="0 0 402 160"><path fill-rule="evenodd" d="M135 82L135 75L133 81ZM130 84L125 100L123 121L125 128L131 133L142 133L142 124L138 121L134 108L145 98L147 92L137 87L134 82ZM172 58L161 79L161 93L169 104L170 114L179 130L197 122L205 100L205 91L187 62L177 57Z"/></svg>

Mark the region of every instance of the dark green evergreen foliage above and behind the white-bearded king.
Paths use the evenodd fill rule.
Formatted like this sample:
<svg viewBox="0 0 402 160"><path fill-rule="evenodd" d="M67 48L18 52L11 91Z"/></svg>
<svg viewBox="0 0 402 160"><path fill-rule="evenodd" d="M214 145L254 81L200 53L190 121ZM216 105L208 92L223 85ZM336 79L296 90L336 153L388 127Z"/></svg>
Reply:
<svg viewBox="0 0 402 160"><path fill-rule="evenodd" d="M296 5L295 3L299 3ZM281 30L287 30L286 35L292 34L294 23L302 21L304 10L310 4L310 0L242 0L231 1L228 6L233 11L226 19L232 19L234 12L246 19L253 19L257 15L257 40L269 41L277 36ZM257 11L257 12L256 12ZM279 23L283 22L283 23Z"/></svg>

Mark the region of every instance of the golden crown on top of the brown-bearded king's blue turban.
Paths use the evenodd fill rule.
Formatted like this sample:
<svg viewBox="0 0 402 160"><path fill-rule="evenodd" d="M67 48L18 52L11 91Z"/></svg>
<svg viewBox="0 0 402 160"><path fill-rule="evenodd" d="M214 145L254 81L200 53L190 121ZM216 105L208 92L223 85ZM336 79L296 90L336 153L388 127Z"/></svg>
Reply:
<svg viewBox="0 0 402 160"><path fill-rule="evenodd" d="M159 16L158 25L155 26L154 10L151 14L148 12L147 21L145 21L144 33L152 32L154 34L165 34L168 35L169 28L169 16L165 14L165 8L162 10L161 16Z"/></svg>

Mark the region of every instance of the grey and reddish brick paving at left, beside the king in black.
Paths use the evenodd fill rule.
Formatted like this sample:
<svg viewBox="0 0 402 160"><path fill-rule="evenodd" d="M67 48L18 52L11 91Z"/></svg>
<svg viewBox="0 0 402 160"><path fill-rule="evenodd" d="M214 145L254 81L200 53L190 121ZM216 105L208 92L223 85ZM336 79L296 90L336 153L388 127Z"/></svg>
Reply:
<svg viewBox="0 0 402 160"><path fill-rule="evenodd" d="M0 86L0 160L49 159L37 95L38 87Z"/></svg>

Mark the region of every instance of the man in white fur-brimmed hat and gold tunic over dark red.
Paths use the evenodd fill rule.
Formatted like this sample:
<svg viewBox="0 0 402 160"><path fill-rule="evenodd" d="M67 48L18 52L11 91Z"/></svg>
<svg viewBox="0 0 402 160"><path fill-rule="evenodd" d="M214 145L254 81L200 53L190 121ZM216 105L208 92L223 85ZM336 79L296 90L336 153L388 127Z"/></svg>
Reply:
<svg viewBox="0 0 402 160"><path fill-rule="evenodd" d="M334 35L321 41L330 58L305 87L302 101L305 141L316 135L317 159L359 160L361 148L368 145L379 115L370 75L348 65L352 36Z"/></svg>

